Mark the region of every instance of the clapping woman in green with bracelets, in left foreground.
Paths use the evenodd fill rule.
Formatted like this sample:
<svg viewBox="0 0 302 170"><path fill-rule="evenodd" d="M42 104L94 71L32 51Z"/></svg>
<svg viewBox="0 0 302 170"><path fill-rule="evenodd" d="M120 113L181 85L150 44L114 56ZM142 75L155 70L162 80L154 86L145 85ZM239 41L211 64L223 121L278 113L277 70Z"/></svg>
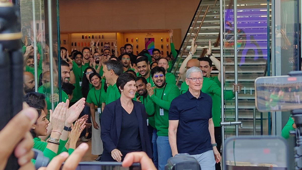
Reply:
<svg viewBox="0 0 302 170"><path fill-rule="evenodd" d="M31 134L34 138L33 148L42 151L43 155L48 157L50 160L61 152L68 152L69 154L71 154L76 148L76 142L79 138L79 134L85 128L85 121L81 119L79 121L79 123L81 124L79 131L76 131L76 129L74 129L74 131L70 133L72 138L69 139L69 142L67 142L67 140L61 140L60 137L65 125L66 109L67 108L65 103L59 103L53 111L51 115L51 125L53 127L53 130L51 131L50 138L47 142L41 140L38 137L47 135L47 127L49 121L48 119L46 119L46 114L43 110L37 109L38 119L36 123L34 123L31 127ZM79 125L77 127L79 128ZM74 133L77 134L75 135ZM36 160L34 159L32 160L33 163L35 163L35 161Z"/></svg>

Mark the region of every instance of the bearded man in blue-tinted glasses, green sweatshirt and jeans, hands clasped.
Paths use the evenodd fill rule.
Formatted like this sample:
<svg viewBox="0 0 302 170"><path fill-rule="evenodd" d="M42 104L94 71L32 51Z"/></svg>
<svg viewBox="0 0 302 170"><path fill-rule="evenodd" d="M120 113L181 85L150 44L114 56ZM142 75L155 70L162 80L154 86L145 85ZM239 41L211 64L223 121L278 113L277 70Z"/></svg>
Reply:
<svg viewBox="0 0 302 170"><path fill-rule="evenodd" d="M156 88L151 87L150 83L147 84L149 95L147 97L146 112L148 115L154 113L157 139L156 143L153 143L153 138L152 143L153 147L157 145L158 169L164 170L165 164L172 156L168 139L168 113L172 100L179 96L179 89L175 84L165 82L165 69L163 67L154 67L151 70L151 77ZM155 137L154 134L153 137Z"/></svg>

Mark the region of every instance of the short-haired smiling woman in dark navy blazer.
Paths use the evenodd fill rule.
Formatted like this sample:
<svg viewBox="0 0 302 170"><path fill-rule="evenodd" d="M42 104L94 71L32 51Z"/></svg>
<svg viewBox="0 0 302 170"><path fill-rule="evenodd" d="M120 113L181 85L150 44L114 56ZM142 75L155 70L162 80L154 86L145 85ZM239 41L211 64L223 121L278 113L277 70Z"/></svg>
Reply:
<svg viewBox="0 0 302 170"><path fill-rule="evenodd" d="M123 161L129 152L143 151L152 158L147 130L146 110L135 97L135 78L123 73L116 85L121 96L105 106L101 116L101 139L104 151L101 161Z"/></svg>

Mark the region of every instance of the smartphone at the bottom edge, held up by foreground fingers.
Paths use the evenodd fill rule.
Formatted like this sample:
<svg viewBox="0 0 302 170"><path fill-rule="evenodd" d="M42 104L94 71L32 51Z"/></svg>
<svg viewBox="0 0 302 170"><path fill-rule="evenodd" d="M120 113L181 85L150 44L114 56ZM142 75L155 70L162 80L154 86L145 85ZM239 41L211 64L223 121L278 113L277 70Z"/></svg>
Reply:
<svg viewBox="0 0 302 170"><path fill-rule="evenodd" d="M63 167L64 163L62 164ZM61 167L61 169L62 169ZM140 163L134 163L130 167L122 167L122 162L80 162L76 170L141 170Z"/></svg>

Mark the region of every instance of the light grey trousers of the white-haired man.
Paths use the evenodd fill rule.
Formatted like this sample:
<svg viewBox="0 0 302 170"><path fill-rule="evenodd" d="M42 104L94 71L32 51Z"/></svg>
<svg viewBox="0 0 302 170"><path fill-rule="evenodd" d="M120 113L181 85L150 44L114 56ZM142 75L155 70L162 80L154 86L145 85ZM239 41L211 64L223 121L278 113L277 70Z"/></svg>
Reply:
<svg viewBox="0 0 302 170"><path fill-rule="evenodd" d="M194 157L199 162L201 170L215 170L216 162L213 150L190 156Z"/></svg>

